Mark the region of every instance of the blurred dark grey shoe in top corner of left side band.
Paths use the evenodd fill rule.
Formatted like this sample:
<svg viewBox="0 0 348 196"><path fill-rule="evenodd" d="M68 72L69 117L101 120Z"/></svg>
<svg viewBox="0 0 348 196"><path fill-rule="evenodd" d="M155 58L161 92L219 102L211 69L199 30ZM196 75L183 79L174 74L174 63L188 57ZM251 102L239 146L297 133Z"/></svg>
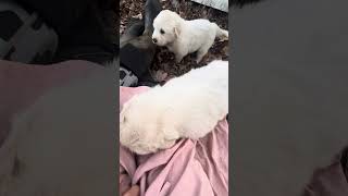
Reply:
<svg viewBox="0 0 348 196"><path fill-rule="evenodd" d="M0 2L0 59L23 63L49 63L58 48L58 35L36 12L12 1Z"/></svg>

